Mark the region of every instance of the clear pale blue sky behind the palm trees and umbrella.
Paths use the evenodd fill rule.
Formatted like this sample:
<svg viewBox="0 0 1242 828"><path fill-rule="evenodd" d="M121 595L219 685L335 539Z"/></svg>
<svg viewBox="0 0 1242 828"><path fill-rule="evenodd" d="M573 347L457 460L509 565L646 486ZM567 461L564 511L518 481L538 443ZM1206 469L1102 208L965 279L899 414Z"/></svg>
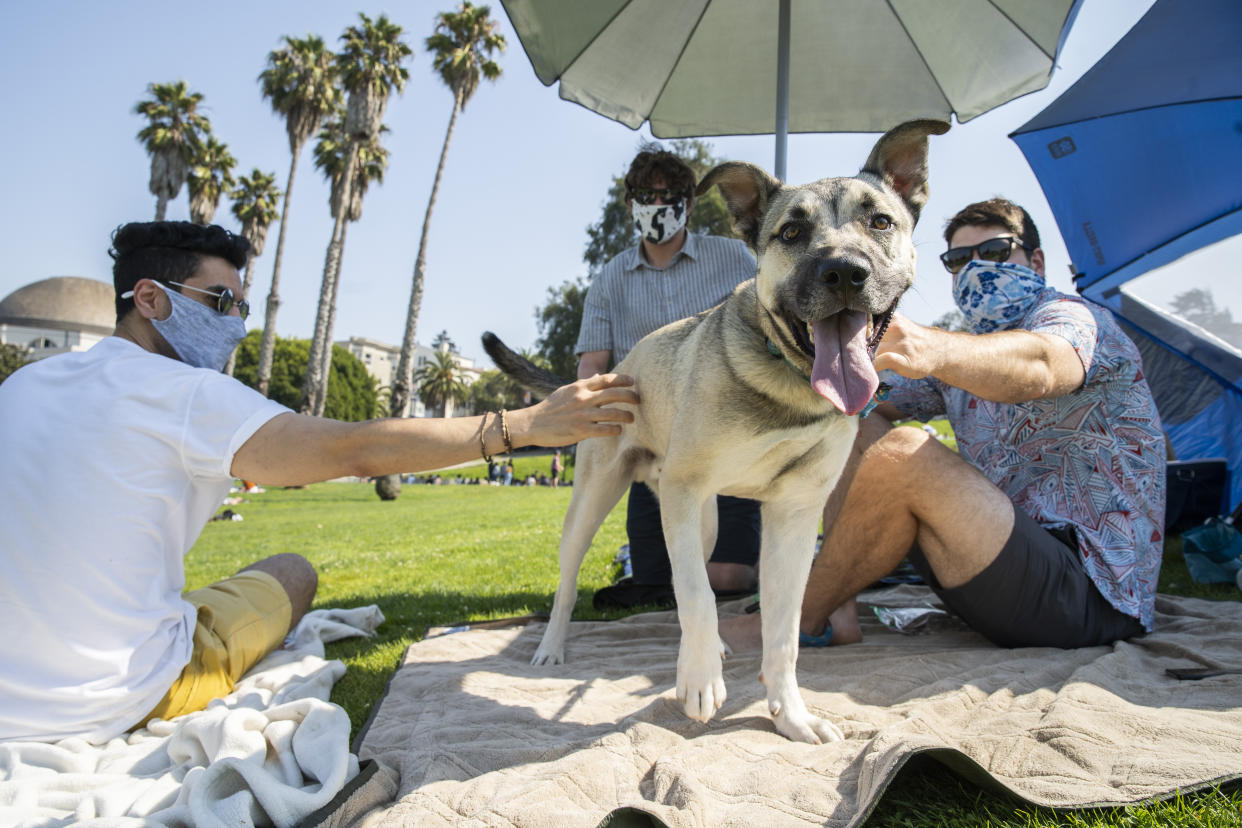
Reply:
<svg viewBox="0 0 1242 828"><path fill-rule="evenodd" d="M410 83L389 106L391 165L366 196L345 248L335 339L365 335L400 344L414 258L452 98L422 50L435 14L453 0L354 6L328 0L220 0L168 4L40 0L0 4L0 220L10 238L0 297L48 276L111 281L109 233L149 220L149 159L133 114L149 82L185 79L205 96L216 135L240 171L274 171L283 187L289 151L283 123L256 77L283 35L314 32L330 43L359 10L385 12L416 46ZM902 309L930 322L951 308L936 261L945 220L963 205L1005 195L1025 205L1045 238L1049 282L1071 290L1068 257L1043 194L1006 135L1052 102L1143 15L1150 0L1087 0L1048 88L1013 101L932 142L932 199L917 232L918 278ZM458 119L432 218L419 340L446 329L462 353L486 361L479 334L510 345L537 336L534 309L549 286L586 272L585 228L596 221L611 178L626 168L646 128L632 132L544 87L499 2L509 40L503 77L483 83ZM852 175L878 135L792 135L789 180ZM718 158L773 168L771 137L708 139ZM169 206L188 218L188 197ZM216 221L235 227L227 205ZM332 232L328 187L299 160L281 277L277 333L309 336ZM271 282L276 227L256 266L252 300ZM261 313L252 317L262 324Z"/></svg>

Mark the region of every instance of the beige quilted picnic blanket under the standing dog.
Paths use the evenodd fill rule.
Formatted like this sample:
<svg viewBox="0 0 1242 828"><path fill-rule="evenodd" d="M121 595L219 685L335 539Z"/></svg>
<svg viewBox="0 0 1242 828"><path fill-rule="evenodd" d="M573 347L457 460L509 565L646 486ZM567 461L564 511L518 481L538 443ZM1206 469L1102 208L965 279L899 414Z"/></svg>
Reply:
<svg viewBox="0 0 1242 828"><path fill-rule="evenodd" d="M866 598L934 601L910 586ZM529 663L542 623L428 637L407 649L359 749L400 776L366 824L595 828L631 807L676 827L857 826L928 751L1061 808L1242 776L1242 675L1165 674L1242 668L1242 603L1160 596L1158 632L1077 650L1000 649L953 619L903 634L863 613L862 644L801 650L807 706L846 735L820 746L776 734L758 654L727 660L713 721L687 719L673 612L575 622L568 663L553 668Z"/></svg>

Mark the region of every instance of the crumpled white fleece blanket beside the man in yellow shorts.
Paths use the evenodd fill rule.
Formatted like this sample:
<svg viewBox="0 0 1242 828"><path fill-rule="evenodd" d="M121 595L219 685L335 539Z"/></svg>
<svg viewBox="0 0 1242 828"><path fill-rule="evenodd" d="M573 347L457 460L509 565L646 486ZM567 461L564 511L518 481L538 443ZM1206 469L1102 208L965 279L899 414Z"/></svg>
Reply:
<svg viewBox="0 0 1242 828"><path fill-rule="evenodd" d="M376 606L308 612L232 694L128 737L0 744L0 826L297 824L358 775L328 701L345 665L324 642L383 621Z"/></svg>

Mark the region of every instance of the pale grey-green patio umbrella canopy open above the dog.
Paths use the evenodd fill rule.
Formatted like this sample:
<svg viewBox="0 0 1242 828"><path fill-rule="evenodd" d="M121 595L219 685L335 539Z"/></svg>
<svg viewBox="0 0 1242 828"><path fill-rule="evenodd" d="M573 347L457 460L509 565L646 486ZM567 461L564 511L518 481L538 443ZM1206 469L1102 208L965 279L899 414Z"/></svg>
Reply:
<svg viewBox="0 0 1242 828"><path fill-rule="evenodd" d="M545 86L657 138L966 122L1048 83L1081 0L502 0Z"/></svg>

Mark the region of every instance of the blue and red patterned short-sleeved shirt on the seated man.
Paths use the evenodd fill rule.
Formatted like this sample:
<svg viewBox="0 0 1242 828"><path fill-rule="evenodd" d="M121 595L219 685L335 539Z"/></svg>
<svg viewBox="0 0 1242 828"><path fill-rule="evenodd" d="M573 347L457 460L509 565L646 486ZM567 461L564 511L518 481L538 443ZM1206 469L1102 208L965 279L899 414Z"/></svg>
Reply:
<svg viewBox="0 0 1242 828"><path fill-rule="evenodd" d="M1083 386L1002 403L886 371L889 402L924 422L948 415L961 456L1038 524L1072 524L1100 593L1150 631L1164 550L1165 442L1138 348L1108 310L1053 288L1017 328L1068 340L1086 369Z"/></svg>

